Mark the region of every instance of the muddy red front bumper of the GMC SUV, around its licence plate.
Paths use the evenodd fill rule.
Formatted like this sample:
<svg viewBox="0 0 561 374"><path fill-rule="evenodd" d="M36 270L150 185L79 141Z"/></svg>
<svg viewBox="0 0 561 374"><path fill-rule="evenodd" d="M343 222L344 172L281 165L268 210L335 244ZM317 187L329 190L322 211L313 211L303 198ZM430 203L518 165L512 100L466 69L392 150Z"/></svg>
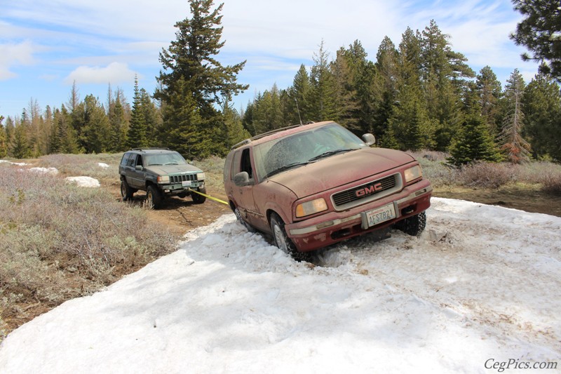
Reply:
<svg viewBox="0 0 561 374"><path fill-rule="evenodd" d="M396 194L356 206L347 211L330 212L300 222L285 225L286 232L299 251L313 251L353 236L383 229L431 206L433 188L428 180L405 187ZM396 218L368 227L365 212L393 203Z"/></svg>

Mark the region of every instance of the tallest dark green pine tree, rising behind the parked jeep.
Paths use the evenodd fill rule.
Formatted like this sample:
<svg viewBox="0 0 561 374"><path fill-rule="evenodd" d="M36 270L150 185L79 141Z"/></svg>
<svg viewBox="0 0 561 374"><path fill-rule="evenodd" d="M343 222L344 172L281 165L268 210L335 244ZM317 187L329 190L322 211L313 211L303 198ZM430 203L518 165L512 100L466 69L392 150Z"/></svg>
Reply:
<svg viewBox="0 0 561 374"><path fill-rule="evenodd" d="M217 106L248 88L236 83L245 61L224 67L215 58L224 46L219 26L223 4L211 10L212 3L212 0L189 0L191 18L175 24L177 39L160 53L161 87L154 93L154 98L162 102L165 142L192 156L203 156L221 144L224 128ZM204 140L207 147L189 147L184 143L187 139L190 143ZM195 149L203 153L198 154Z"/></svg>

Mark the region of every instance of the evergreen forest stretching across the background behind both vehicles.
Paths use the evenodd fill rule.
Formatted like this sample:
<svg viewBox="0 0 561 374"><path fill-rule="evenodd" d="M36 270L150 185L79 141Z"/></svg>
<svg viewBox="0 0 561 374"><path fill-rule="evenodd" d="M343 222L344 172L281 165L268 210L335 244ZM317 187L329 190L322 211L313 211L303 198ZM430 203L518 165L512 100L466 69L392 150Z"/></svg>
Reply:
<svg viewBox="0 0 561 374"><path fill-rule="evenodd" d="M334 55L321 41L292 86L273 84L238 111L232 98L249 87L236 81L245 62L222 66L216 58L222 5L190 5L191 17L175 25L177 40L160 53L154 93L135 81L132 102L111 86L106 98L82 99L76 84L60 107L32 99L21 116L0 116L0 158L170 147L203 159L252 135L333 120L359 136L373 133L379 147L448 152L456 165L561 161L561 93L548 70L526 83L515 69L502 86L491 67L475 72L435 21L407 28L398 44L386 36L375 56L358 40Z"/></svg>

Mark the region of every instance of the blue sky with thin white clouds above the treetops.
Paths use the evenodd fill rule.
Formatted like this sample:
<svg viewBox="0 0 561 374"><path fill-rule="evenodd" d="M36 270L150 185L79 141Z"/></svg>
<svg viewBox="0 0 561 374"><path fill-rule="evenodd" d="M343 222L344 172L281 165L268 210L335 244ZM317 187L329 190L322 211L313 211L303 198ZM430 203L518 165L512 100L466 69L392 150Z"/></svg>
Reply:
<svg viewBox="0 0 561 374"><path fill-rule="evenodd" d="M475 72L489 65L503 86L515 68L527 82L537 71L508 39L521 20L508 0L224 0L222 15L218 60L247 60L238 82L250 88L234 98L236 109L273 84L292 85L322 40L332 57L359 40L374 60L384 36L397 46L407 27L422 30L432 19ZM0 114L20 116L32 100L60 107L74 81L81 100L107 102L111 84L132 103L135 74L153 93L158 53L187 17L187 0L0 0Z"/></svg>

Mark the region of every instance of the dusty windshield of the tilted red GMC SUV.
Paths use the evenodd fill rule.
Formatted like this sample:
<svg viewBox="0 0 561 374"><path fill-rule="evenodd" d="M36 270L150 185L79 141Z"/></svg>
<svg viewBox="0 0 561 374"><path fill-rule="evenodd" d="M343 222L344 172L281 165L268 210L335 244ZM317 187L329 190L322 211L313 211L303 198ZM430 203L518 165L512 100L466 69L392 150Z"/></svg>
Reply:
<svg viewBox="0 0 561 374"><path fill-rule="evenodd" d="M363 147L367 145L351 131L330 123L255 146L257 176L263 180L290 168Z"/></svg>

